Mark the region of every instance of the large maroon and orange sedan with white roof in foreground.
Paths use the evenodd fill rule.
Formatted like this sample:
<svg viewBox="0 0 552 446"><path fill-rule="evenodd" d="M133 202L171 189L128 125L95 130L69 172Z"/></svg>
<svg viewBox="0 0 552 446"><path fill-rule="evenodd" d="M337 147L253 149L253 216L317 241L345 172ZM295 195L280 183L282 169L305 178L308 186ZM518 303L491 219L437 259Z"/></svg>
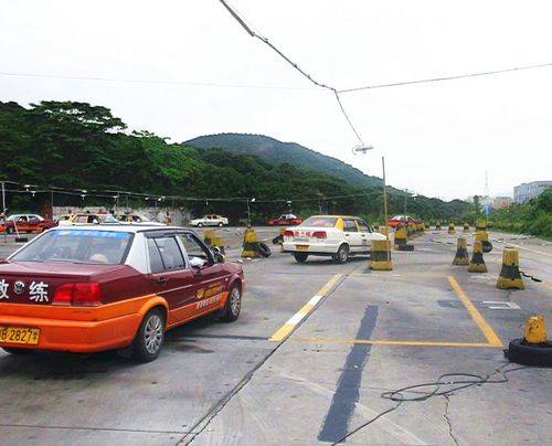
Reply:
<svg viewBox="0 0 552 446"><path fill-rule="evenodd" d="M240 316L244 275L191 230L62 226L0 264L0 347L155 360L164 332L200 316Z"/></svg>

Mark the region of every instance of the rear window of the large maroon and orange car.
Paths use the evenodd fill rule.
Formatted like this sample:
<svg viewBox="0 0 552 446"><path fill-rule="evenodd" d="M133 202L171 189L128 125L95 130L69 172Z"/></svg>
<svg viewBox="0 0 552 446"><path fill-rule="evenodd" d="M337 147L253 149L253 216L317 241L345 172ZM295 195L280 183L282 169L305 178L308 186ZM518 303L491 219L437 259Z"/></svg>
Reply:
<svg viewBox="0 0 552 446"><path fill-rule="evenodd" d="M54 230L35 238L10 261L118 265L131 237L118 231Z"/></svg>

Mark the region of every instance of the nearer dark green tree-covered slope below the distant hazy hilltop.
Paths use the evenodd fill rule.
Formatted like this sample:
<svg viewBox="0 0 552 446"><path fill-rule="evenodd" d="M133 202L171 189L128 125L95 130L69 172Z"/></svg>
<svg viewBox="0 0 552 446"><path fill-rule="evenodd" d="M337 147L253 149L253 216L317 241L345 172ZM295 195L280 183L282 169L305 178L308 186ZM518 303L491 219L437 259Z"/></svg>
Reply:
<svg viewBox="0 0 552 446"><path fill-rule="evenodd" d="M288 201L301 216L332 212L382 220L380 187L362 188L312 170L308 163L267 162L221 148L170 144L149 131L129 132L108 108L86 103L42 102L22 107L0 102L0 180L18 182L22 192L8 193L12 213L38 211L47 204L52 187L57 187L78 190L76 197L55 193L57 205L113 206L113 191L130 191L177 195L174 205L194 215L223 213L233 222L245 216L247 198L256 199L256 222L286 211ZM25 191L24 184L35 193ZM105 192L82 198L82 190ZM144 197L130 199L130 204L144 206ZM404 195L392 190L390 213L402 212L403 204ZM459 216L467 206L459 200L418 195L408 212L447 219Z"/></svg>

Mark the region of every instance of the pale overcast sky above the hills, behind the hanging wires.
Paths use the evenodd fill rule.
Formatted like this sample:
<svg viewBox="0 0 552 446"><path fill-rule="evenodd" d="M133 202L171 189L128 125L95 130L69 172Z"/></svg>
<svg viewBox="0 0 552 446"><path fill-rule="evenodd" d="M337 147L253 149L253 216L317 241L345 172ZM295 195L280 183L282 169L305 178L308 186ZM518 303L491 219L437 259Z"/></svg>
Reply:
<svg viewBox="0 0 552 446"><path fill-rule="evenodd" d="M231 0L323 83L348 88L552 62L543 1ZM295 141L445 199L552 180L552 67L343 96L311 87L217 0L0 0L0 72L287 88L0 75L0 100L84 100L182 141L240 131Z"/></svg>

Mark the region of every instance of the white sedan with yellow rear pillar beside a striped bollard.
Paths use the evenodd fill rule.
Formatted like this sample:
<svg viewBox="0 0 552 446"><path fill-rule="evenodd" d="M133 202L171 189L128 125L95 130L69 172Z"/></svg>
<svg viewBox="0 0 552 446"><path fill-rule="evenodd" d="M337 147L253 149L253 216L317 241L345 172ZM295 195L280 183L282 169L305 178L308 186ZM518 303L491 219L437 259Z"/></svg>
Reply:
<svg viewBox="0 0 552 446"><path fill-rule="evenodd" d="M298 263L307 262L310 255L346 263L351 255L369 254L372 240L385 240L385 235L358 216L314 215L286 230L283 246Z"/></svg>

